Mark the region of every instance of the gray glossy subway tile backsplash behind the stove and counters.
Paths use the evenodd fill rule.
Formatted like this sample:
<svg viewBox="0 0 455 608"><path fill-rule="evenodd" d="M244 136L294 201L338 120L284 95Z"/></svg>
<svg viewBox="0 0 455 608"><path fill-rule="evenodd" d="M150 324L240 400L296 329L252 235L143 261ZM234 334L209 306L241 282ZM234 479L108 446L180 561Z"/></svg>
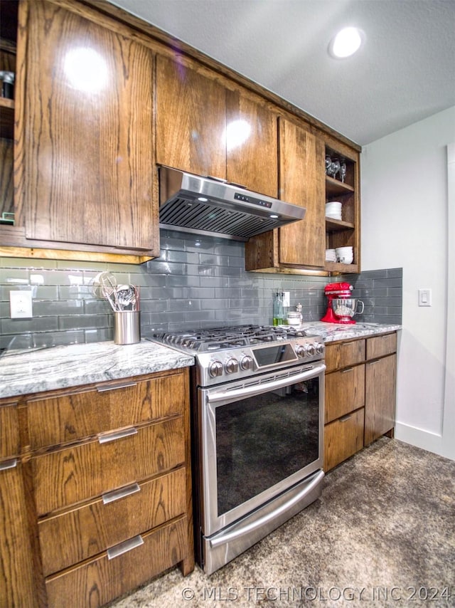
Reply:
<svg viewBox="0 0 455 608"><path fill-rule="evenodd" d="M276 291L289 291L291 305L303 305L304 320L319 320L326 309L324 286L336 281L352 283L353 297L365 301L358 320L401 323L401 268L336 278L248 273L243 243L162 231L161 256L141 266L1 258L0 347L13 339L39 345L112 340L109 303L95 298L91 288L97 273L106 270L118 283L140 285L142 335L269 325ZM9 318L11 289L32 290L33 319Z"/></svg>

